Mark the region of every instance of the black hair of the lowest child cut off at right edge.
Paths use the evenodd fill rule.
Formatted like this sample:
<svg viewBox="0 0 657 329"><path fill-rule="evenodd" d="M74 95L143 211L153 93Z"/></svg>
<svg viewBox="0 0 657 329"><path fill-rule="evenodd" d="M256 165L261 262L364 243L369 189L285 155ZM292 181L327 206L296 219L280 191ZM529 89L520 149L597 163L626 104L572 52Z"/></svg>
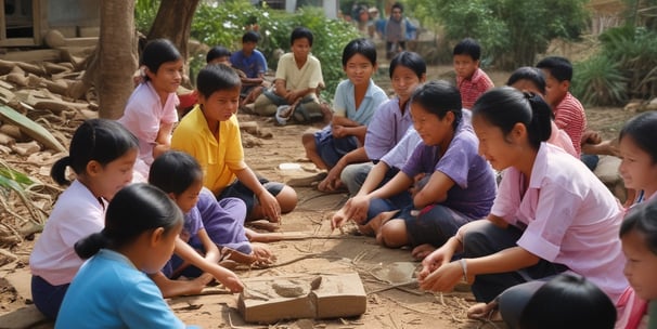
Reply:
<svg viewBox="0 0 657 329"><path fill-rule="evenodd" d="M657 254L657 199L644 201L632 206L620 224L619 236L636 231L640 233L645 245L654 254Z"/></svg>

